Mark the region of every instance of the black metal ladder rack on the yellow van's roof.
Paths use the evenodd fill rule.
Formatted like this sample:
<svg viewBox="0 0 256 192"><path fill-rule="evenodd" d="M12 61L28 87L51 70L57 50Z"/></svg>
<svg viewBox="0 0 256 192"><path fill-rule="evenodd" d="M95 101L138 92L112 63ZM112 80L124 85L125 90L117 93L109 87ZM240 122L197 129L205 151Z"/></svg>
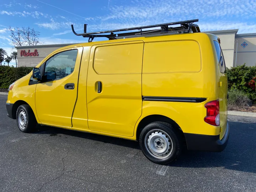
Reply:
<svg viewBox="0 0 256 192"><path fill-rule="evenodd" d="M198 25L193 24L193 22L197 22L198 19L194 20L187 20L187 21L178 21L178 22L171 22L171 23L162 23L158 25L148 25L148 26L141 26L141 27L131 27L131 28L123 28L117 30L108 30L108 31L98 31L98 32L86 32L87 24L84 24L84 33L76 33L74 30L74 26L71 25L72 31L77 36L89 37L89 42L91 42L95 37L107 37L108 39L116 39L117 37L128 37L128 36L138 36L138 35L148 35L148 34L158 34L158 33L170 33L170 32L185 32L188 33L192 30L192 32L200 32ZM169 27L169 25L178 25L180 27ZM160 29L153 29L142 31L142 29L146 28L154 28L154 27L161 27ZM116 33L114 32L122 32L122 31L132 31L132 30L139 30L140 32L125 32L125 33ZM104 34L110 33L110 34Z"/></svg>

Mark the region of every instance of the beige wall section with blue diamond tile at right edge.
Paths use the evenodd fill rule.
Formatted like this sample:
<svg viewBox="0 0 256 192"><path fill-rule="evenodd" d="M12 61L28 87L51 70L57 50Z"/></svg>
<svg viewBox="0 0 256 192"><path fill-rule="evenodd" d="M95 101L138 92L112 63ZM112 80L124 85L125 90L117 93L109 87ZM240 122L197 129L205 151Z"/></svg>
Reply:
<svg viewBox="0 0 256 192"><path fill-rule="evenodd" d="M236 38L235 40L238 40L236 66L242 65L244 63L247 66L254 66L256 64L256 37ZM248 44L245 48L241 46L243 42L246 42ZM234 66L235 66L235 56L236 56L236 43L235 43L235 50L234 50Z"/></svg>

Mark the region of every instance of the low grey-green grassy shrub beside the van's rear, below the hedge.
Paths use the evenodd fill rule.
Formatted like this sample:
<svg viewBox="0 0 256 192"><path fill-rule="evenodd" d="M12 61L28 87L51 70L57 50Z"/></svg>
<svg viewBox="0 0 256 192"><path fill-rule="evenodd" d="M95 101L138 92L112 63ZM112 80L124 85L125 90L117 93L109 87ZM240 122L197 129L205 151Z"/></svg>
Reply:
<svg viewBox="0 0 256 192"><path fill-rule="evenodd" d="M251 100L241 90L232 89L229 91L228 98L229 107L249 107L251 106Z"/></svg>

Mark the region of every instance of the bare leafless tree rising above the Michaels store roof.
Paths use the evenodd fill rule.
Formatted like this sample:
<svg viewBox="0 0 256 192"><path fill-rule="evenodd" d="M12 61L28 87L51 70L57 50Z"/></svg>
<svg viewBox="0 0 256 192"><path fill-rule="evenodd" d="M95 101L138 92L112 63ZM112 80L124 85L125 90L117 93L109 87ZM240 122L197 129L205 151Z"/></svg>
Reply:
<svg viewBox="0 0 256 192"><path fill-rule="evenodd" d="M11 28L10 26L8 30L11 32L12 44L14 46L34 46L34 45L40 44L39 42L40 32L34 30L34 28L32 29L30 27Z"/></svg>

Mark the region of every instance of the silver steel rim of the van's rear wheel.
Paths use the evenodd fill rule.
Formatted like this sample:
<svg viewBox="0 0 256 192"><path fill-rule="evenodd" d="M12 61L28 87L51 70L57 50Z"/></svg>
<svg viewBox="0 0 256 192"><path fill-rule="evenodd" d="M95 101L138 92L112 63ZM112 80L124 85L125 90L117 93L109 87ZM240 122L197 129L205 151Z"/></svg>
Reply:
<svg viewBox="0 0 256 192"><path fill-rule="evenodd" d="M166 159L172 154L172 139L161 129L150 130L145 136L144 144L148 153L156 159Z"/></svg>

